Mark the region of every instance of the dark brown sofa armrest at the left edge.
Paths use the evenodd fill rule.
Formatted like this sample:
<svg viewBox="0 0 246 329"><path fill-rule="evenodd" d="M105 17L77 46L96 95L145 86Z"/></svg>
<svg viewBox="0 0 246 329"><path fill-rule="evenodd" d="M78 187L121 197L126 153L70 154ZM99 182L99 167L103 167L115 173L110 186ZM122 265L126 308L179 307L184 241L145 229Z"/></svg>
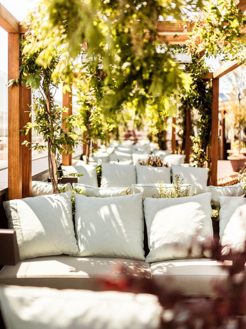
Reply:
<svg viewBox="0 0 246 329"><path fill-rule="evenodd" d="M16 265L19 261L15 230L0 229L0 265Z"/></svg>

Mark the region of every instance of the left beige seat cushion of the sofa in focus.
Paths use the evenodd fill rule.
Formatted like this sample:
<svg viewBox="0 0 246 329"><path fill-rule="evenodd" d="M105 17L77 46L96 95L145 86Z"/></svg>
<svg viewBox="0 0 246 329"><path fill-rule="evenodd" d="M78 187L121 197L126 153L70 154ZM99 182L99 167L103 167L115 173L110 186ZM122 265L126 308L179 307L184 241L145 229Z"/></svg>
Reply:
<svg viewBox="0 0 246 329"><path fill-rule="evenodd" d="M4 266L0 271L0 284L101 291L105 290L102 279L121 280L124 272L149 278L150 266L144 261L126 258L37 257L15 266Z"/></svg>

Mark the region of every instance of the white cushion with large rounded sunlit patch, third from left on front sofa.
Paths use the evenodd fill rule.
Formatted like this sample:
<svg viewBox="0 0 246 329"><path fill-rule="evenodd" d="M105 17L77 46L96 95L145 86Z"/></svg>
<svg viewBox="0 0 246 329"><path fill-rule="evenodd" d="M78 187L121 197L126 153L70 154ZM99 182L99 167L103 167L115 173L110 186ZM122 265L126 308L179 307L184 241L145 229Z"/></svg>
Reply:
<svg viewBox="0 0 246 329"><path fill-rule="evenodd" d="M134 195L134 194L133 194ZM147 263L210 257L213 241L211 193L181 198L145 198L150 252Z"/></svg>

